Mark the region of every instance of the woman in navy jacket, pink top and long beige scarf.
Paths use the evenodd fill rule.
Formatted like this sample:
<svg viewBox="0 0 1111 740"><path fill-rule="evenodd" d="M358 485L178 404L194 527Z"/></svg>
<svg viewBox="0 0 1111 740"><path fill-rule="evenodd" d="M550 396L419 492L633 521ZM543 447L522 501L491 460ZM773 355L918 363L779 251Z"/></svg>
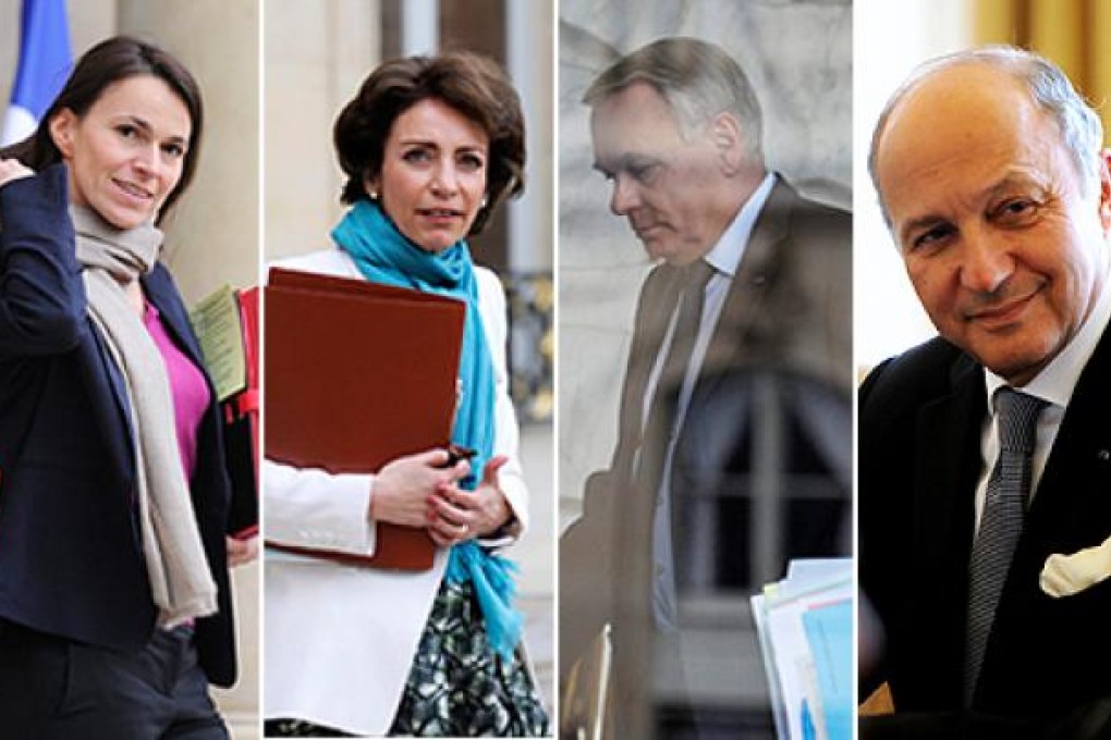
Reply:
<svg viewBox="0 0 1111 740"><path fill-rule="evenodd" d="M0 722L20 738L227 738L236 679L219 408L154 224L203 122L117 37L0 151ZM228 537L236 533L239 539Z"/></svg>

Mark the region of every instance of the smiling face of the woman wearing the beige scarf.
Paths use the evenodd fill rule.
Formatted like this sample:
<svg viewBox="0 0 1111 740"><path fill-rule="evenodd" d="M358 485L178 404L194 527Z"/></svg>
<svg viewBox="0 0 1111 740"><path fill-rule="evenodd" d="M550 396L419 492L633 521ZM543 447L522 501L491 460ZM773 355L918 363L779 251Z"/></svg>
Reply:
<svg viewBox="0 0 1111 740"><path fill-rule="evenodd" d="M70 201L117 229L154 219L181 179L191 131L182 100L147 74L108 85L82 116L63 109L50 121Z"/></svg>

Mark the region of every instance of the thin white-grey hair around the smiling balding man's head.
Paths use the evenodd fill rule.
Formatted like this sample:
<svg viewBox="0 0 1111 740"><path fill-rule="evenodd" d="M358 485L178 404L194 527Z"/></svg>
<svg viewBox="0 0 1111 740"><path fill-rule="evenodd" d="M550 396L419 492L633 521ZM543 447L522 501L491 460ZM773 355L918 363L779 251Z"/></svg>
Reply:
<svg viewBox="0 0 1111 740"><path fill-rule="evenodd" d="M1084 195L1091 195L1092 189L1099 187L1098 154L1103 145L1103 124L1100 123L1099 114L1080 97L1064 72L1044 57L1015 47L991 45L967 49L920 64L891 95L891 100L883 108L880 120L875 124L875 131L872 133L872 145L868 153L868 173L871 175L872 185L880 197L883 220L889 227L891 226L891 217L888 214L887 204L883 202L883 193L880 191L880 181L875 171L880 139L887 129L888 119L891 118L891 112L907 93L918 87L920 82L940 70L959 64L987 64L1008 72L1023 83L1034 104L1049 113L1057 123L1061 134L1061 143L1069 150L1072 163L1077 168L1077 174L1080 175L1081 192Z"/></svg>

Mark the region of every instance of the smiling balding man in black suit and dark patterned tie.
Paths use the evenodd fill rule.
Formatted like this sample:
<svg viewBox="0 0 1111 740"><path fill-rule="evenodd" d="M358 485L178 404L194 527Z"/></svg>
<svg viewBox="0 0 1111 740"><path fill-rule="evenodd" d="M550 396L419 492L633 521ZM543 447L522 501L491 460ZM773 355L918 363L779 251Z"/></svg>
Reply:
<svg viewBox="0 0 1111 740"><path fill-rule="evenodd" d="M1063 73L1008 48L928 62L877 125L873 182L941 336L860 392L860 579L885 637L861 696L887 681L897 711L864 738L1111 737L1111 580L1040 578L1111 535L1101 143Z"/></svg>

